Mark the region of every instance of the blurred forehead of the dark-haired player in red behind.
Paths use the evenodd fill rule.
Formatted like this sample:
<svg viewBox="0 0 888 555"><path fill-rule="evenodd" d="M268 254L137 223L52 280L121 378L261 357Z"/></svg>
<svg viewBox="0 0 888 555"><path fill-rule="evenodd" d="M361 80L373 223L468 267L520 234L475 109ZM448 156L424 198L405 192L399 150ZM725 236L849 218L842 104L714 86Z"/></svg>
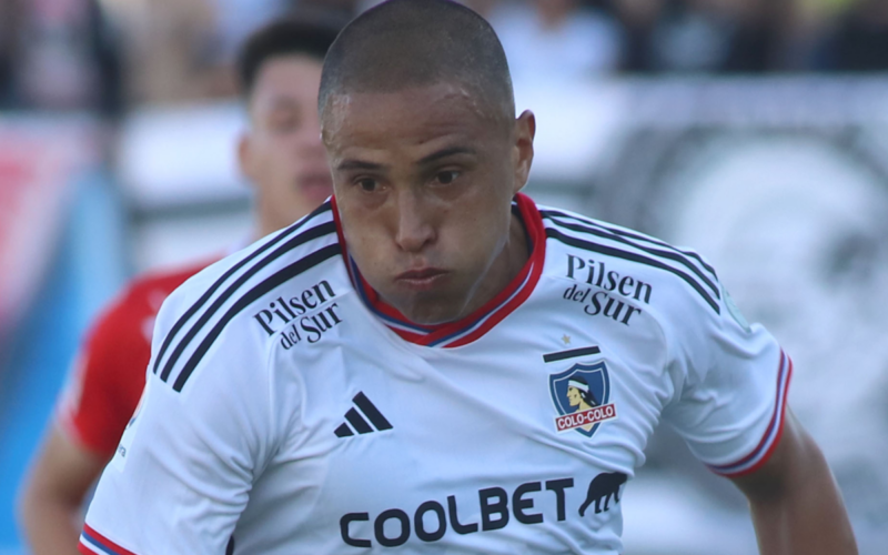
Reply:
<svg viewBox="0 0 888 555"><path fill-rule="evenodd" d="M321 84L322 62L305 54L281 54L269 58L253 83L250 103L262 107L279 99L316 101ZM314 105L311 107L314 109Z"/></svg>

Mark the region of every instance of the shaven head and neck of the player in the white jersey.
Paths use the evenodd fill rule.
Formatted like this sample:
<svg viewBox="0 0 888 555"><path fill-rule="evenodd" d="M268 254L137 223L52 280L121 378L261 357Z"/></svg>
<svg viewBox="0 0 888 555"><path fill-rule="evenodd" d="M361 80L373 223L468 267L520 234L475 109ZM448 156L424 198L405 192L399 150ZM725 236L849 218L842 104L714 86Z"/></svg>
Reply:
<svg viewBox="0 0 888 555"><path fill-rule="evenodd" d="M491 26L446 0L391 0L330 48L319 99L342 236L362 279L407 320L453 322L528 256L512 200L536 120L515 117Z"/></svg>

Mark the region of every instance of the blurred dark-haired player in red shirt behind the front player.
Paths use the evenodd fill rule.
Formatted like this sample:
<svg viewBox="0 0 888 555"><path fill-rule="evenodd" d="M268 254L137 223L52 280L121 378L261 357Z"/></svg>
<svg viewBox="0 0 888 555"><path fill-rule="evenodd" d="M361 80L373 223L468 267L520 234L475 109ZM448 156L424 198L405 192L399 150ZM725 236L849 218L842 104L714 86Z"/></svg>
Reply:
<svg viewBox="0 0 888 555"><path fill-rule="evenodd" d="M335 36L334 28L287 19L259 30L242 49L249 129L238 154L255 186L254 239L290 225L332 193L315 107ZM209 262L138 278L91 326L21 500L34 554L77 553L84 496L144 386L154 316L163 299Z"/></svg>

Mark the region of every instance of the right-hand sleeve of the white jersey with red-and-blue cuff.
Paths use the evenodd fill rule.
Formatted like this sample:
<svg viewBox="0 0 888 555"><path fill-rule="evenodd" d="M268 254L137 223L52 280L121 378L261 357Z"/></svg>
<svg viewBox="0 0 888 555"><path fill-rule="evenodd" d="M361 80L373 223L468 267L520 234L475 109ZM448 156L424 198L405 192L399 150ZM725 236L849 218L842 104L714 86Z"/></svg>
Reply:
<svg viewBox="0 0 888 555"><path fill-rule="evenodd" d="M696 300L674 310L670 364L679 385L663 417L709 470L736 477L759 468L779 442L791 362L715 283L717 311Z"/></svg>

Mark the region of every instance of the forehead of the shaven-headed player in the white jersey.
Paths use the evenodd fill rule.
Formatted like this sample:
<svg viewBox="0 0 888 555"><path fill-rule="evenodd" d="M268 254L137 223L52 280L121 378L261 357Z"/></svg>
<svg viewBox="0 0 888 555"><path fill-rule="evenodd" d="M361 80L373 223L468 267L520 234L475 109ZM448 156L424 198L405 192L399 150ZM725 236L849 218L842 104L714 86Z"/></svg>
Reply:
<svg viewBox="0 0 888 555"><path fill-rule="evenodd" d="M331 152L422 145L444 137L493 134L501 129L496 115L471 91L448 83L332 94L323 110L323 138Z"/></svg>

